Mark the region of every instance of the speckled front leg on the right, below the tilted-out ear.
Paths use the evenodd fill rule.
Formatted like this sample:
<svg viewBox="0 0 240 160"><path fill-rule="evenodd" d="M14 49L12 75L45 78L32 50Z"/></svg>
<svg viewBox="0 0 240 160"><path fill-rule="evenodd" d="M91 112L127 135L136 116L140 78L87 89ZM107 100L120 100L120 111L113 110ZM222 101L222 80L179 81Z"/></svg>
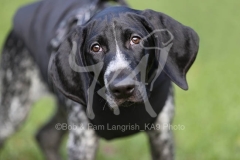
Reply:
<svg viewBox="0 0 240 160"><path fill-rule="evenodd" d="M171 123L174 116L173 91L170 89L167 101L162 112L155 122L155 129L148 131L149 142L153 160L174 159L174 137ZM160 126L160 127L159 127Z"/></svg>

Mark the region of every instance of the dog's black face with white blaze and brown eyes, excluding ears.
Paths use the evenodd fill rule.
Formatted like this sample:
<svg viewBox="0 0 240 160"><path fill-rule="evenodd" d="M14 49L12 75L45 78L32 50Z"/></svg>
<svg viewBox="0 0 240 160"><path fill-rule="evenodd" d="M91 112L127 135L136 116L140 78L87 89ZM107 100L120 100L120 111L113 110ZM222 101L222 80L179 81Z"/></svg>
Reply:
<svg viewBox="0 0 240 160"><path fill-rule="evenodd" d="M136 72L140 70L142 58L150 54L141 45L142 38L149 33L132 16L126 11L108 9L93 17L85 26L83 54L86 66L104 62L98 82L106 86L105 94L110 107L129 106L147 98L142 96L147 96L145 83ZM144 45L148 46L149 41Z"/></svg>

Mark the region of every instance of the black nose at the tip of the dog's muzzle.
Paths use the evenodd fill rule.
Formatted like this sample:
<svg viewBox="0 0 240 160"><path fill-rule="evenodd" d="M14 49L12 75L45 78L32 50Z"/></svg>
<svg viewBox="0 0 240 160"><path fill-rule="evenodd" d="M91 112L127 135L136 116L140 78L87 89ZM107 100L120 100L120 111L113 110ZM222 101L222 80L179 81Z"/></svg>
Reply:
<svg viewBox="0 0 240 160"><path fill-rule="evenodd" d="M113 82L109 85L112 94L116 98L128 98L133 95L135 90L135 84L132 80L123 80L121 82Z"/></svg>

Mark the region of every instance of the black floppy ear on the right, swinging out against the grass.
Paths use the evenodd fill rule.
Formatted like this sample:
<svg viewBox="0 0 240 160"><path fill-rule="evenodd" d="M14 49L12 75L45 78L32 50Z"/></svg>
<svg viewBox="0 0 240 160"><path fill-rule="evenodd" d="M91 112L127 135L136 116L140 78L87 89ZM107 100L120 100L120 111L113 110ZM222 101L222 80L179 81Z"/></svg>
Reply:
<svg viewBox="0 0 240 160"><path fill-rule="evenodd" d="M193 64L198 52L199 38L197 33L163 13L145 10L142 15L153 32L154 30L166 29L173 35L173 45L168 53L163 71L180 88L187 90L186 73ZM163 33L154 33L155 37L159 37L154 40L156 47L163 48L163 44L169 39L170 36L166 32ZM155 53L156 57L160 57L160 50L156 50Z"/></svg>

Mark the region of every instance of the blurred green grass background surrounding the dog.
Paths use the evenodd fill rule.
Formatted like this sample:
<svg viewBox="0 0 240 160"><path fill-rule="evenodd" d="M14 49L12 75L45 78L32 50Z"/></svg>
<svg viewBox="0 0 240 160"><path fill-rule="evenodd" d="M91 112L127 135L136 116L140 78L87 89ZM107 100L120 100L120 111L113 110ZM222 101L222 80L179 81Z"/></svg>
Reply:
<svg viewBox="0 0 240 160"><path fill-rule="evenodd" d="M0 45L12 17L31 0L0 0ZM191 26L200 36L200 51L187 79L189 90L175 86L174 132L177 160L240 159L240 1L128 0L132 8L164 12ZM1 48L1 47L0 47ZM34 135L53 114L54 101L36 103L23 127L6 142L0 160L43 160ZM67 137L66 137L67 138ZM66 140L65 140L66 142ZM150 159L143 133L114 141L101 140L99 160ZM62 145L66 158L66 147Z"/></svg>

